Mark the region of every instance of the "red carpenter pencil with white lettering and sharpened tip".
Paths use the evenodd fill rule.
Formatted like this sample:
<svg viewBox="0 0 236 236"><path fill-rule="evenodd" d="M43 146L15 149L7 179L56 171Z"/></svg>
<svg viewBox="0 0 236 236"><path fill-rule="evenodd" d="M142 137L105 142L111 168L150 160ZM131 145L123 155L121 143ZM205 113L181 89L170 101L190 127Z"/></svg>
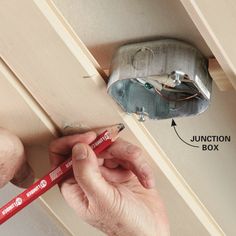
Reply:
<svg viewBox="0 0 236 236"><path fill-rule="evenodd" d="M123 124L107 128L90 144L91 148L96 154L101 153L115 141L118 137L118 133L123 129ZM72 159L69 158L0 208L0 225L29 205L36 198L40 197L54 185L58 184L71 171L71 169Z"/></svg>

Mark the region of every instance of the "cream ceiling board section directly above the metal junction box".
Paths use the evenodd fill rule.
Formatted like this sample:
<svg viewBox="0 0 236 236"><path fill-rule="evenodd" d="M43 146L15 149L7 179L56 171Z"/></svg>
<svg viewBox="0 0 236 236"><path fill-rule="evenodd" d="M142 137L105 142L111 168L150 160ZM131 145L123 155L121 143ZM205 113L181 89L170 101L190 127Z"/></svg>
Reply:
<svg viewBox="0 0 236 236"><path fill-rule="evenodd" d="M53 0L102 68L110 65L121 44L174 37L209 48L180 1Z"/></svg>

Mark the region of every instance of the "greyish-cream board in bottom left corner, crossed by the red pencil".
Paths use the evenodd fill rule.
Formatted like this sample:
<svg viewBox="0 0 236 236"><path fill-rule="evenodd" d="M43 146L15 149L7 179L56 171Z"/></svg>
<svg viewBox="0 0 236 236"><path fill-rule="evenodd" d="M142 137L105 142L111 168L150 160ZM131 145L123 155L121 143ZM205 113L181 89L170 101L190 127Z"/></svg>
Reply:
<svg viewBox="0 0 236 236"><path fill-rule="evenodd" d="M0 205L3 205L9 198L16 196L22 190L13 186L6 185L0 189ZM23 211L15 215L9 221L1 225L1 236L70 236L55 218L48 214L47 209L36 200Z"/></svg>

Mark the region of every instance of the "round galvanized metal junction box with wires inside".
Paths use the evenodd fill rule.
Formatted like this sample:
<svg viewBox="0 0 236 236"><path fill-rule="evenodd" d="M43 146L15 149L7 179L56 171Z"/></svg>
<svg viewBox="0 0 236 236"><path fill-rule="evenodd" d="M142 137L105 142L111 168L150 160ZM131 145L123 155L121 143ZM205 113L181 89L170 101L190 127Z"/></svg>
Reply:
<svg viewBox="0 0 236 236"><path fill-rule="evenodd" d="M211 96L208 61L190 44L163 39L122 46L114 55L108 93L140 121L196 115Z"/></svg>

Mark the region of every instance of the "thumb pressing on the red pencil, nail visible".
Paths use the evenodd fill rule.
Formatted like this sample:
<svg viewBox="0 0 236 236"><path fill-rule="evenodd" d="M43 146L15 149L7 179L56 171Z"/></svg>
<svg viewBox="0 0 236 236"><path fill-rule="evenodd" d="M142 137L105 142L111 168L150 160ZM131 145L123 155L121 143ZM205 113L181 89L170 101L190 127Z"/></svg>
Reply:
<svg viewBox="0 0 236 236"><path fill-rule="evenodd" d="M111 186L103 178L97 157L87 144L76 144L72 149L74 177L88 199L108 197ZM104 196L106 195L106 196Z"/></svg>

